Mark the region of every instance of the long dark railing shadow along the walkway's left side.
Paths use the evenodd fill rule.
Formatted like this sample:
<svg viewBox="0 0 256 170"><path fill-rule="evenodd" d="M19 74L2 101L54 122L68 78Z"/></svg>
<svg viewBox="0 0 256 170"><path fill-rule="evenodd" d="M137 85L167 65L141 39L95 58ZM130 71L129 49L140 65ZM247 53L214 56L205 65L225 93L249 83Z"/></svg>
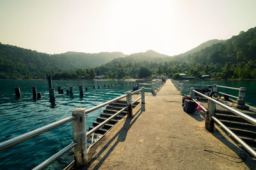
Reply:
<svg viewBox="0 0 256 170"><path fill-rule="evenodd" d="M113 143L113 141L117 138L116 142L111 146L111 148L109 148L108 152L102 157L102 159L100 159L98 164L95 167L93 167L93 169L99 169L99 167L103 164L103 162L108 158L110 153L114 150L116 145L118 145L118 143L120 142L125 141L127 132L132 127L134 122L138 119L138 117L140 117L141 113L143 113L143 106L141 106L140 110L138 110L131 118L127 117L125 119L124 126L122 127L122 129L120 129L120 131L118 131L115 134L115 136L113 136L113 138L109 140L109 142L100 150L100 152L97 153L97 155L95 155L95 157L92 158L90 163L86 166L86 169L90 167L93 164L93 162L97 160L97 158L99 158L102 155L102 153L104 153L108 149L108 146L111 145L111 143Z"/></svg>

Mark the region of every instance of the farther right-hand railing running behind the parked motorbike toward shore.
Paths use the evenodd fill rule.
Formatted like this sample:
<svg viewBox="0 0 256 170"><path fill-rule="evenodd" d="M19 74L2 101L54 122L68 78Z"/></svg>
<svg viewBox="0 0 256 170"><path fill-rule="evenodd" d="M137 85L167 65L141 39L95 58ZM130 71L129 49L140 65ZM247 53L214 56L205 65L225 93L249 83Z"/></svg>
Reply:
<svg viewBox="0 0 256 170"><path fill-rule="evenodd" d="M229 100L229 97L233 97L235 99L237 99L237 104L239 105L244 105L245 104L245 93L246 93L246 88L245 87L240 87L240 88L234 88L234 87L226 87L226 86L222 86L222 85L184 85L184 83L180 83L177 80L172 80L173 85L176 87L177 90L180 91L181 95L184 95L184 92L189 92L189 90L186 90L184 87L208 87L208 86L212 86L213 87L213 91L214 92L218 92L217 88L223 88L223 89L231 89L231 90L239 90L239 94L238 97L237 96L232 96L230 94L226 94L223 92L218 92L220 94L222 94L224 96L225 100Z"/></svg>

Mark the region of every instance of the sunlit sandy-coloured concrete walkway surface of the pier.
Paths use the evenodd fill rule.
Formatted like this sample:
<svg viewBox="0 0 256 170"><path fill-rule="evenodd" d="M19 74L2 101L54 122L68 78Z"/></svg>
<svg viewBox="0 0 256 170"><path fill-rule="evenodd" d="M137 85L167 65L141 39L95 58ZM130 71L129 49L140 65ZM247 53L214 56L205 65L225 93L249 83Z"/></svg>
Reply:
<svg viewBox="0 0 256 170"><path fill-rule="evenodd" d="M133 100L133 99L132 99ZM88 169L256 169L255 161L215 125L210 133L199 113L182 110L170 80L145 110L133 110L89 153Z"/></svg>

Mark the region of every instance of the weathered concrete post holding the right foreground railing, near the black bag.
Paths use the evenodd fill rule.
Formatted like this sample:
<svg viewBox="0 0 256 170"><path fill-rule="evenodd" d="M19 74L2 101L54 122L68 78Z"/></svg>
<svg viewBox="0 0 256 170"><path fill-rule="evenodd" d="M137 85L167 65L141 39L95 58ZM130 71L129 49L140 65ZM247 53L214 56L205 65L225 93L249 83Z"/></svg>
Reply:
<svg viewBox="0 0 256 170"><path fill-rule="evenodd" d="M215 115L216 104L208 100L208 110L205 112L205 129L209 132L214 131L214 120L211 116Z"/></svg>

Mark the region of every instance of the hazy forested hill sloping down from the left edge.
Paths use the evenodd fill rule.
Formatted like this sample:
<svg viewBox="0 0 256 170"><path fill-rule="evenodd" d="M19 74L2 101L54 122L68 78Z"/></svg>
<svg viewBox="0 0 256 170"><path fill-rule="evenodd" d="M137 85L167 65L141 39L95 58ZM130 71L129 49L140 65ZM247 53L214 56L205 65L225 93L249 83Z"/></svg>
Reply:
<svg viewBox="0 0 256 170"><path fill-rule="evenodd" d="M66 52L49 55L0 43L0 78L31 78L49 71L96 67L118 57L121 52Z"/></svg>

